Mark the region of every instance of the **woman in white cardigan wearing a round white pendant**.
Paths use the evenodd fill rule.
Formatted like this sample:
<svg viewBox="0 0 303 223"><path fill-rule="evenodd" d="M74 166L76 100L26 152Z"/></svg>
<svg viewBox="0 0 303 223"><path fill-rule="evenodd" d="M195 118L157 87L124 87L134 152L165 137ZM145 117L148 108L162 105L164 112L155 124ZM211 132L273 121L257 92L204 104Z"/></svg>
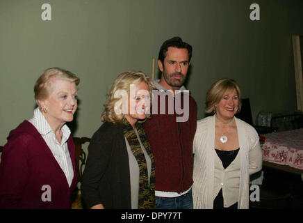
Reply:
<svg viewBox="0 0 303 223"><path fill-rule="evenodd" d="M194 208L249 208L249 175L262 168L259 136L235 117L241 92L231 79L220 79L206 94L206 113L194 139Z"/></svg>

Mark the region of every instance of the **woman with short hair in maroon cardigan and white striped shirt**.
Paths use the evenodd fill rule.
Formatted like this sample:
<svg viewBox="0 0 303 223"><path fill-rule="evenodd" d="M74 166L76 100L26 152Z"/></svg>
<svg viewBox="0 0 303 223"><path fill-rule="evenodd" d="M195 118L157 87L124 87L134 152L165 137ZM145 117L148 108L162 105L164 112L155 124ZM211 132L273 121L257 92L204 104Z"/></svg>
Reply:
<svg viewBox="0 0 303 223"><path fill-rule="evenodd" d="M0 208L71 208L77 179L74 141L66 122L74 118L80 79L49 68L35 83L33 118L8 136L0 164Z"/></svg>

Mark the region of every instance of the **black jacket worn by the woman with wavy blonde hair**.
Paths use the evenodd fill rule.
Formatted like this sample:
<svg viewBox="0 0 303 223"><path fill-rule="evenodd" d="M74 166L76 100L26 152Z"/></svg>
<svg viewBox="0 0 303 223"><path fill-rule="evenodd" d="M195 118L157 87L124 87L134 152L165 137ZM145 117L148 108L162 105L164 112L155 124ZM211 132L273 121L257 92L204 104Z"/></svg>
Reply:
<svg viewBox="0 0 303 223"><path fill-rule="evenodd" d="M104 123L88 146L81 193L86 208L131 208L129 155L122 125Z"/></svg>

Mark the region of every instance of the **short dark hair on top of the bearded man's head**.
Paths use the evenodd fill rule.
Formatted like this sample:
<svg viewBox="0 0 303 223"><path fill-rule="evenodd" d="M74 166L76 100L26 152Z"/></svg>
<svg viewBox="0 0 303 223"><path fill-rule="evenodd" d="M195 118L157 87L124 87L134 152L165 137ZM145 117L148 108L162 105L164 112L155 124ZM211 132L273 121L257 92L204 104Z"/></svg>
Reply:
<svg viewBox="0 0 303 223"><path fill-rule="evenodd" d="M187 49L188 50L188 62L192 58L193 47L188 43L183 42L179 37L173 37L169 40L166 40L160 48L158 60L164 63L164 59L168 50L168 47L177 47L178 49Z"/></svg>

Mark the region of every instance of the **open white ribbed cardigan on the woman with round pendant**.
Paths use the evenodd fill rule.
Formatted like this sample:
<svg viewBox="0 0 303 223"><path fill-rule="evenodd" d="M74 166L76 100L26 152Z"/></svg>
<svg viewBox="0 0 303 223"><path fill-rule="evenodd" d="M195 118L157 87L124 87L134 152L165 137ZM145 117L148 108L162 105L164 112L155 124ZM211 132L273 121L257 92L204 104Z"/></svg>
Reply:
<svg viewBox="0 0 303 223"><path fill-rule="evenodd" d="M259 135L249 124L235 117L240 147L240 187L238 208L249 207L249 174L262 168ZM213 208L215 171L215 116L197 121L193 153L193 205L195 209Z"/></svg>

